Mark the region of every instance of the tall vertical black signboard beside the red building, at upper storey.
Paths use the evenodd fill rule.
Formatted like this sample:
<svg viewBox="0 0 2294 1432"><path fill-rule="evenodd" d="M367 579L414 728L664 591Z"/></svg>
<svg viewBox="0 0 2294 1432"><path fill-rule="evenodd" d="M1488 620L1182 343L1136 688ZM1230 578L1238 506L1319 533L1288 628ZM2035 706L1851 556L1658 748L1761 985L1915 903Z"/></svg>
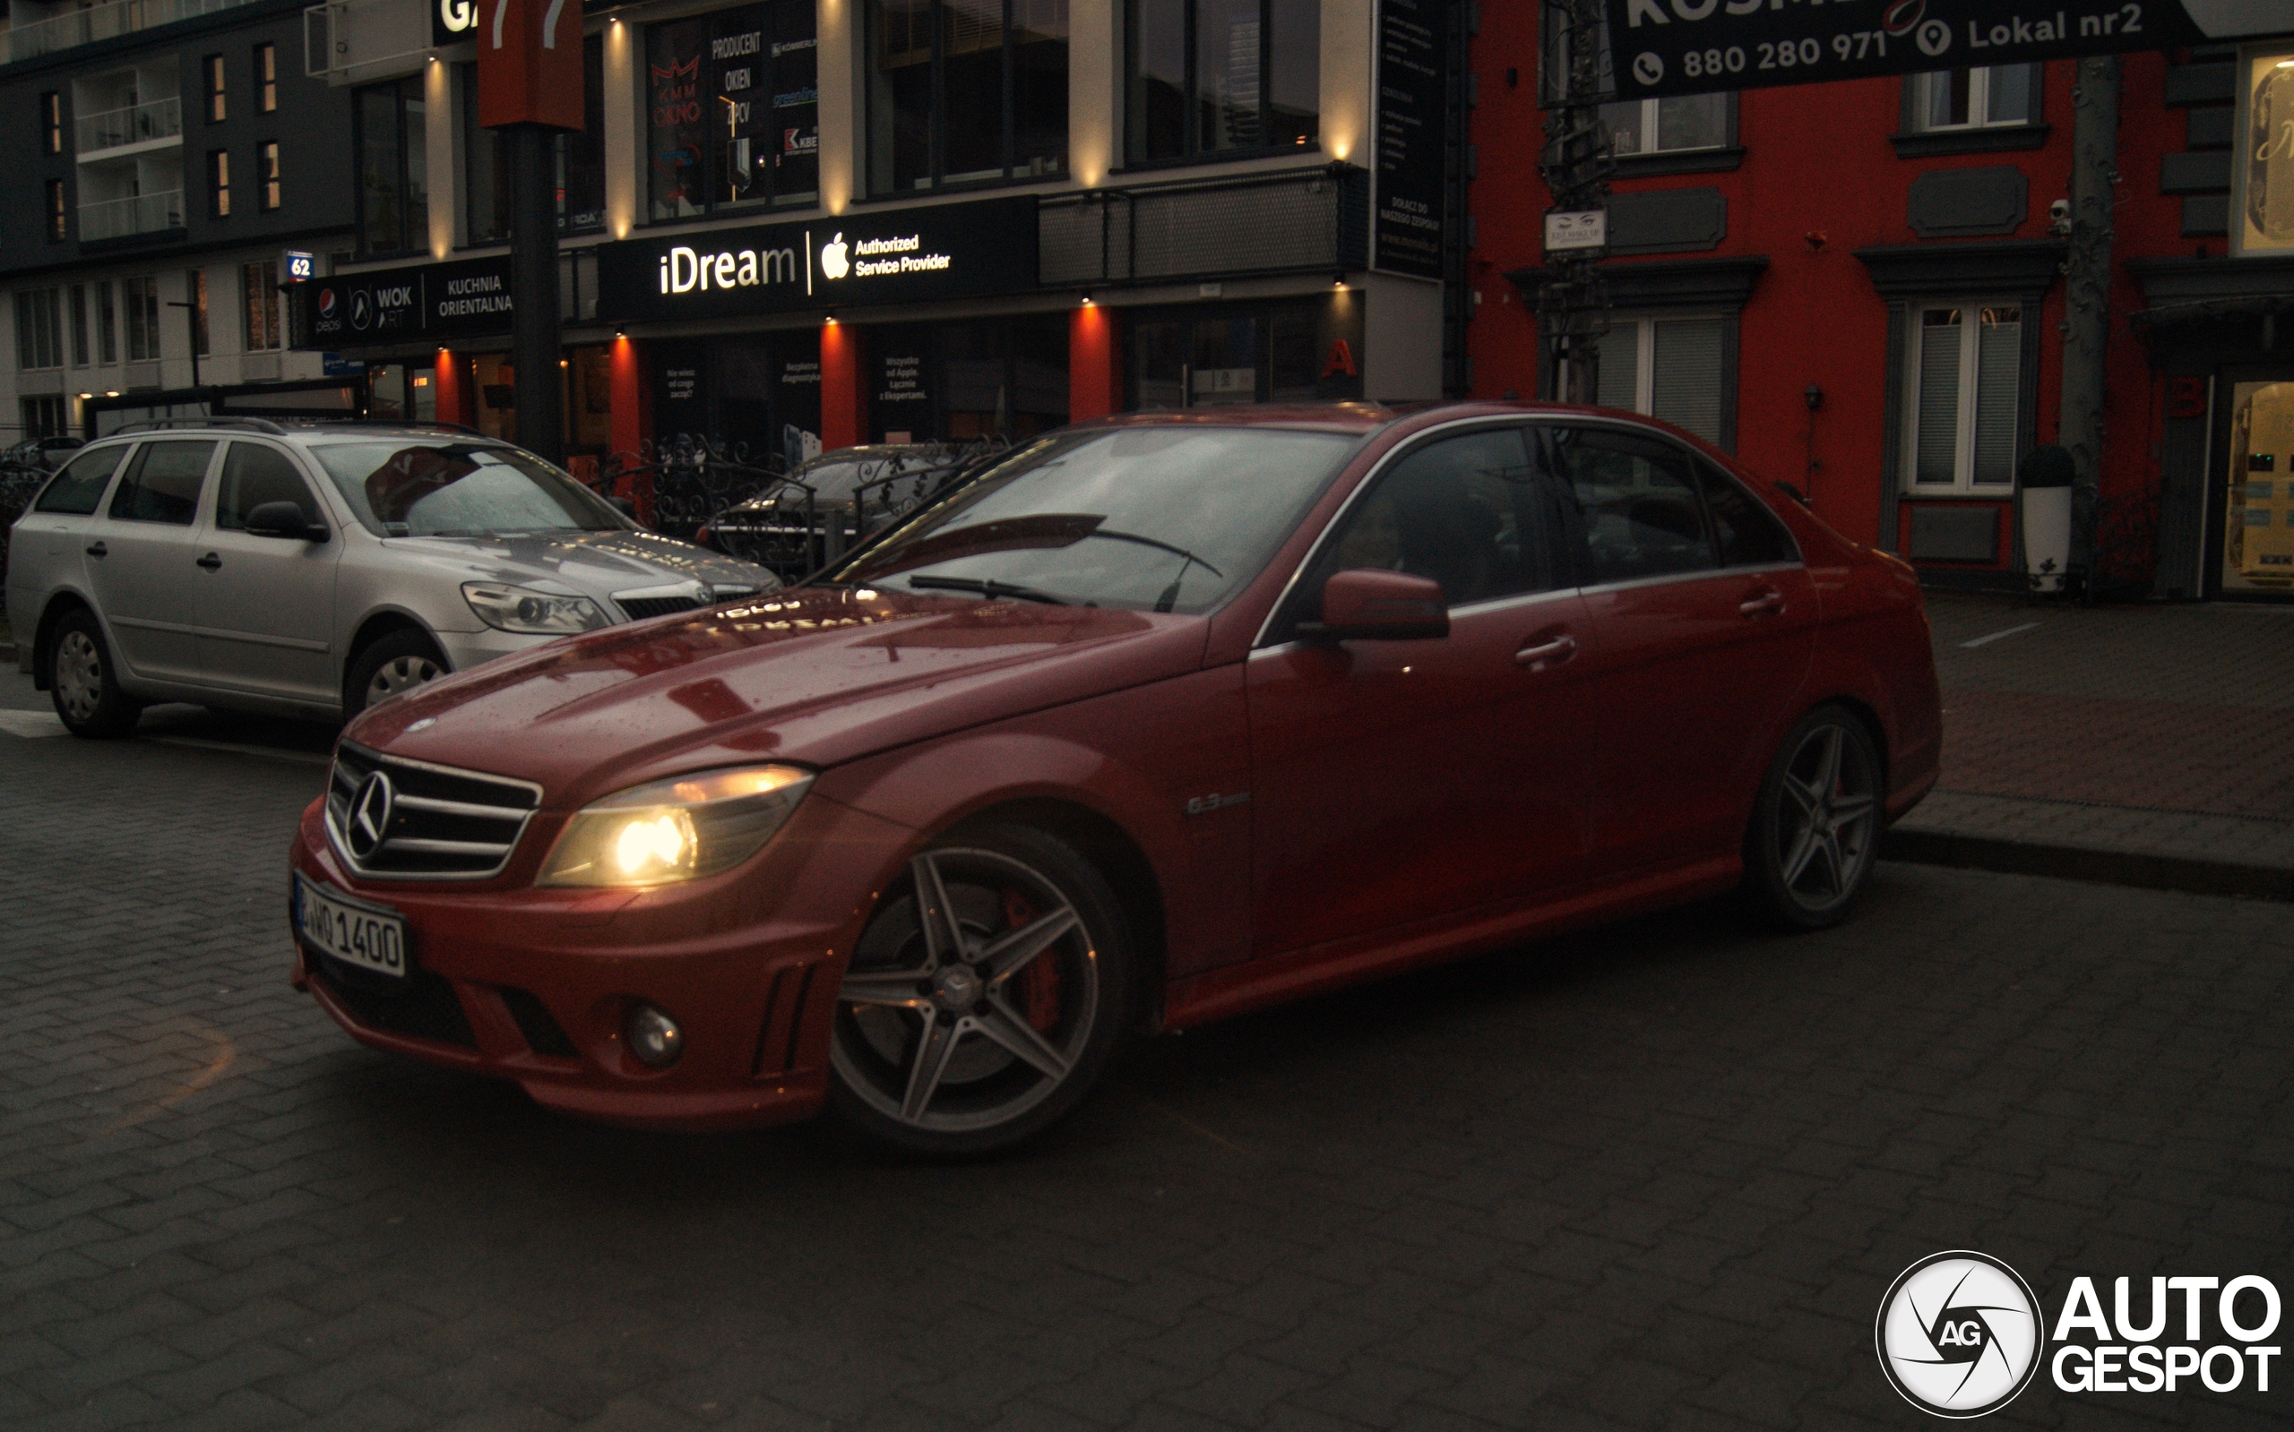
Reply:
<svg viewBox="0 0 2294 1432"><path fill-rule="evenodd" d="M1379 213L1372 263L1441 277L1448 0L1379 5Z"/></svg>

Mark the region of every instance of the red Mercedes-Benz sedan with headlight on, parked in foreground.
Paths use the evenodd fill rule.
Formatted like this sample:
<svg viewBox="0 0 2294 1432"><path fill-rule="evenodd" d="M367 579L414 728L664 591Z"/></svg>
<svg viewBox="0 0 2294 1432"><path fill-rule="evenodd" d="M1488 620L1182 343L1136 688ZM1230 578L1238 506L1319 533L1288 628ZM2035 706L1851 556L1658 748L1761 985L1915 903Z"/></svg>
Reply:
<svg viewBox="0 0 2294 1432"><path fill-rule="evenodd" d="M1138 415L365 713L294 978L553 1109L986 1150L1140 1031L1737 884L1837 921L1936 747L1911 568L1682 433Z"/></svg>

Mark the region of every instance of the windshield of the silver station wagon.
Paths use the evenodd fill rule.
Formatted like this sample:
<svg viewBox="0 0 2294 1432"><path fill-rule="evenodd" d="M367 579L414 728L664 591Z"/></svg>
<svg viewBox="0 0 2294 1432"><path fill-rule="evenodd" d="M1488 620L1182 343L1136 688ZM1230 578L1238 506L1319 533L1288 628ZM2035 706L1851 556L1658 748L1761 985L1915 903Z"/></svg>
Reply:
<svg viewBox="0 0 2294 1432"><path fill-rule="evenodd" d="M596 493L516 447L390 438L317 442L312 454L376 536L629 527Z"/></svg>

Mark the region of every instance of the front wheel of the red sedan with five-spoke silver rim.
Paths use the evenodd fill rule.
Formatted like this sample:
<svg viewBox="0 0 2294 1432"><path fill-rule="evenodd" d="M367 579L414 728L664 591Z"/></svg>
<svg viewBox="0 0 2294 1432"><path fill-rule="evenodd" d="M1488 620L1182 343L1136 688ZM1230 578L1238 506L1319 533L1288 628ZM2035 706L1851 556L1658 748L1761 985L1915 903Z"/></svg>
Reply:
<svg viewBox="0 0 2294 1432"><path fill-rule="evenodd" d="M968 1157L1032 1139L1106 1072L1133 969L1115 891L1064 841L1016 825L950 836L908 861L853 949L828 1109L904 1152Z"/></svg>

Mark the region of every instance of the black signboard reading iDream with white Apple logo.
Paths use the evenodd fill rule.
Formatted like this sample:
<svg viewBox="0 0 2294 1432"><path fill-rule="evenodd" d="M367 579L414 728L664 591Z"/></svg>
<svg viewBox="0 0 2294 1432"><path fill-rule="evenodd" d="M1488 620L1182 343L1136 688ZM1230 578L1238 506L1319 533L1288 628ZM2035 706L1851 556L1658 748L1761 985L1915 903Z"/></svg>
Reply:
<svg viewBox="0 0 2294 1432"><path fill-rule="evenodd" d="M612 323L1023 293L1037 286L1035 199L626 238L596 250L596 284Z"/></svg>

